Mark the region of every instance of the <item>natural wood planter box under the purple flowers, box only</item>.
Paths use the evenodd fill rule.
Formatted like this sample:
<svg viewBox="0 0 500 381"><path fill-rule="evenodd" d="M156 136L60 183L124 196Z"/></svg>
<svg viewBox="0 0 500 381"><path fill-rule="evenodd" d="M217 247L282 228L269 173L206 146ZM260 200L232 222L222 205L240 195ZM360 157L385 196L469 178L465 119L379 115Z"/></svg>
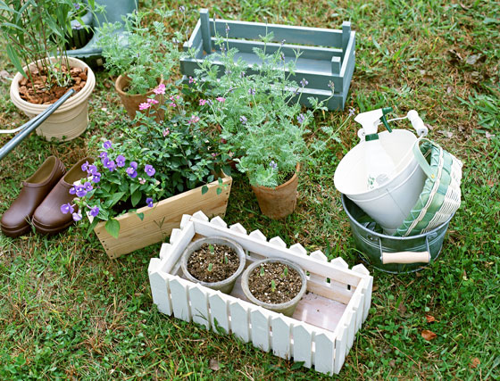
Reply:
<svg viewBox="0 0 500 381"><path fill-rule="evenodd" d="M137 209L137 213L144 213L142 220L136 213L125 213L117 218L120 222L118 238L107 232L104 228L105 222L99 222L94 231L108 257L118 258L150 244L164 241L171 235L173 228L179 227L183 214L204 211L209 216L224 216L231 185L232 178L226 176L222 178L221 195L217 195L220 185L218 180L215 180L207 185L208 192L204 195L202 187L199 186L155 203L153 208L145 206Z"/></svg>

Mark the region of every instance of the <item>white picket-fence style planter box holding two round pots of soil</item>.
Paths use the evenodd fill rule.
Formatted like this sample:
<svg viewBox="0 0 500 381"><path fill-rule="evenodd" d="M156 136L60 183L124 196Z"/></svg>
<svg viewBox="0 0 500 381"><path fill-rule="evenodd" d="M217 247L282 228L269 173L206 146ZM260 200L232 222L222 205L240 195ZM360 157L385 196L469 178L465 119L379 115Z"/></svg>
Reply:
<svg viewBox="0 0 500 381"><path fill-rule="evenodd" d="M237 279L230 295L185 279L179 258L193 238L224 236L237 241L247 253L247 264L262 258L285 258L309 272L308 293L292 318L262 309L246 300ZM278 236L269 241L262 232L246 234L240 224L230 227L220 217L210 222L203 212L183 216L180 228L163 244L160 258L149 263L153 302L158 310L194 321L215 332L223 330L262 351L284 359L304 361L321 373L338 373L366 319L373 278L362 264L348 269L341 258L327 261L320 251L307 254L301 244L287 245Z"/></svg>

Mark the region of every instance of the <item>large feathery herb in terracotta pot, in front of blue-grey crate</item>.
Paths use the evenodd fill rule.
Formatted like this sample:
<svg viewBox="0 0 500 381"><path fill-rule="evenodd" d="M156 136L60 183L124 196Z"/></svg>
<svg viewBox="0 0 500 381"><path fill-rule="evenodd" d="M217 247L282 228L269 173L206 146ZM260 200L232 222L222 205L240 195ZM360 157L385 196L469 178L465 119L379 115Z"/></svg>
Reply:
<svg viewBox="0 0 500 381"><path fill-rule="evenodd" d="M248 65L236 59L236 49L225 48L227 41L219 42L222 54L215 60L225 71L219 73L208 60L201 63L196 73L203 80L196 83L206 99L200 105L221 130L221 150L233 155L237 170L248 176L262 213L284 218L296 208L300 164L308 154L307 126L313 112L326 108L309 98L312 110L302 111L300 87L307 81L297 87L288 79L295 62L285 62L279 49L273 54L255 49L262 63Z"/></svg>

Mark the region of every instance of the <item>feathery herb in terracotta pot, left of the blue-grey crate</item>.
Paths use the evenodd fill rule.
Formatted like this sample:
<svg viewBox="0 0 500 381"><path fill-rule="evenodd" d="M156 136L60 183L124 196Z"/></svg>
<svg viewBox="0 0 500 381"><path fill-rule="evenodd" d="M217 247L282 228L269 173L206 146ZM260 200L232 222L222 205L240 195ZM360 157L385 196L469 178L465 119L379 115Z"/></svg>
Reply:
<svg viewBox="0 0 500 381"><path fill-rule="evenodd" d="M99 29L97 45L103 48L104 67L119 76L115 89L130 119L134 119L140 104L154 95L154 87L170 83L172 68L179 58L182 34L176 32L172 36L166 27L173 13L156 9L154 14L160 17L159 21L151 22L150 13L137 11L128 15L124 25L105 23ZM126 40L116 33L121 28L126 32Z"/></svg>

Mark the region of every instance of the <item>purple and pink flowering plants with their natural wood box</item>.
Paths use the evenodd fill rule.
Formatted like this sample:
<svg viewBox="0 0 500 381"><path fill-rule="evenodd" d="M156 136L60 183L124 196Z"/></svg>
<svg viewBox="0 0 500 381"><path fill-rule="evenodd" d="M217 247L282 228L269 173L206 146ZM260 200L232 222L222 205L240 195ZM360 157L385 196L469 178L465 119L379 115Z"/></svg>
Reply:
<svg viewBox="0 0 500 381"><path fill-rule="evenodd" d="M162 241L183 214L226 211L232 178L222 171L225 156L216 137L204 133L204 120L187 112L182 96L167 95L162 86L154 90L169 99L161 106L172 109L169 119L137 112L135 120L118 122L122 137L106 140L100 160L85 169L84 184L96 186L75 201L91 219L88 232L96 231L111 258ZM149 100L146 111L158 102Z"/></svg>

